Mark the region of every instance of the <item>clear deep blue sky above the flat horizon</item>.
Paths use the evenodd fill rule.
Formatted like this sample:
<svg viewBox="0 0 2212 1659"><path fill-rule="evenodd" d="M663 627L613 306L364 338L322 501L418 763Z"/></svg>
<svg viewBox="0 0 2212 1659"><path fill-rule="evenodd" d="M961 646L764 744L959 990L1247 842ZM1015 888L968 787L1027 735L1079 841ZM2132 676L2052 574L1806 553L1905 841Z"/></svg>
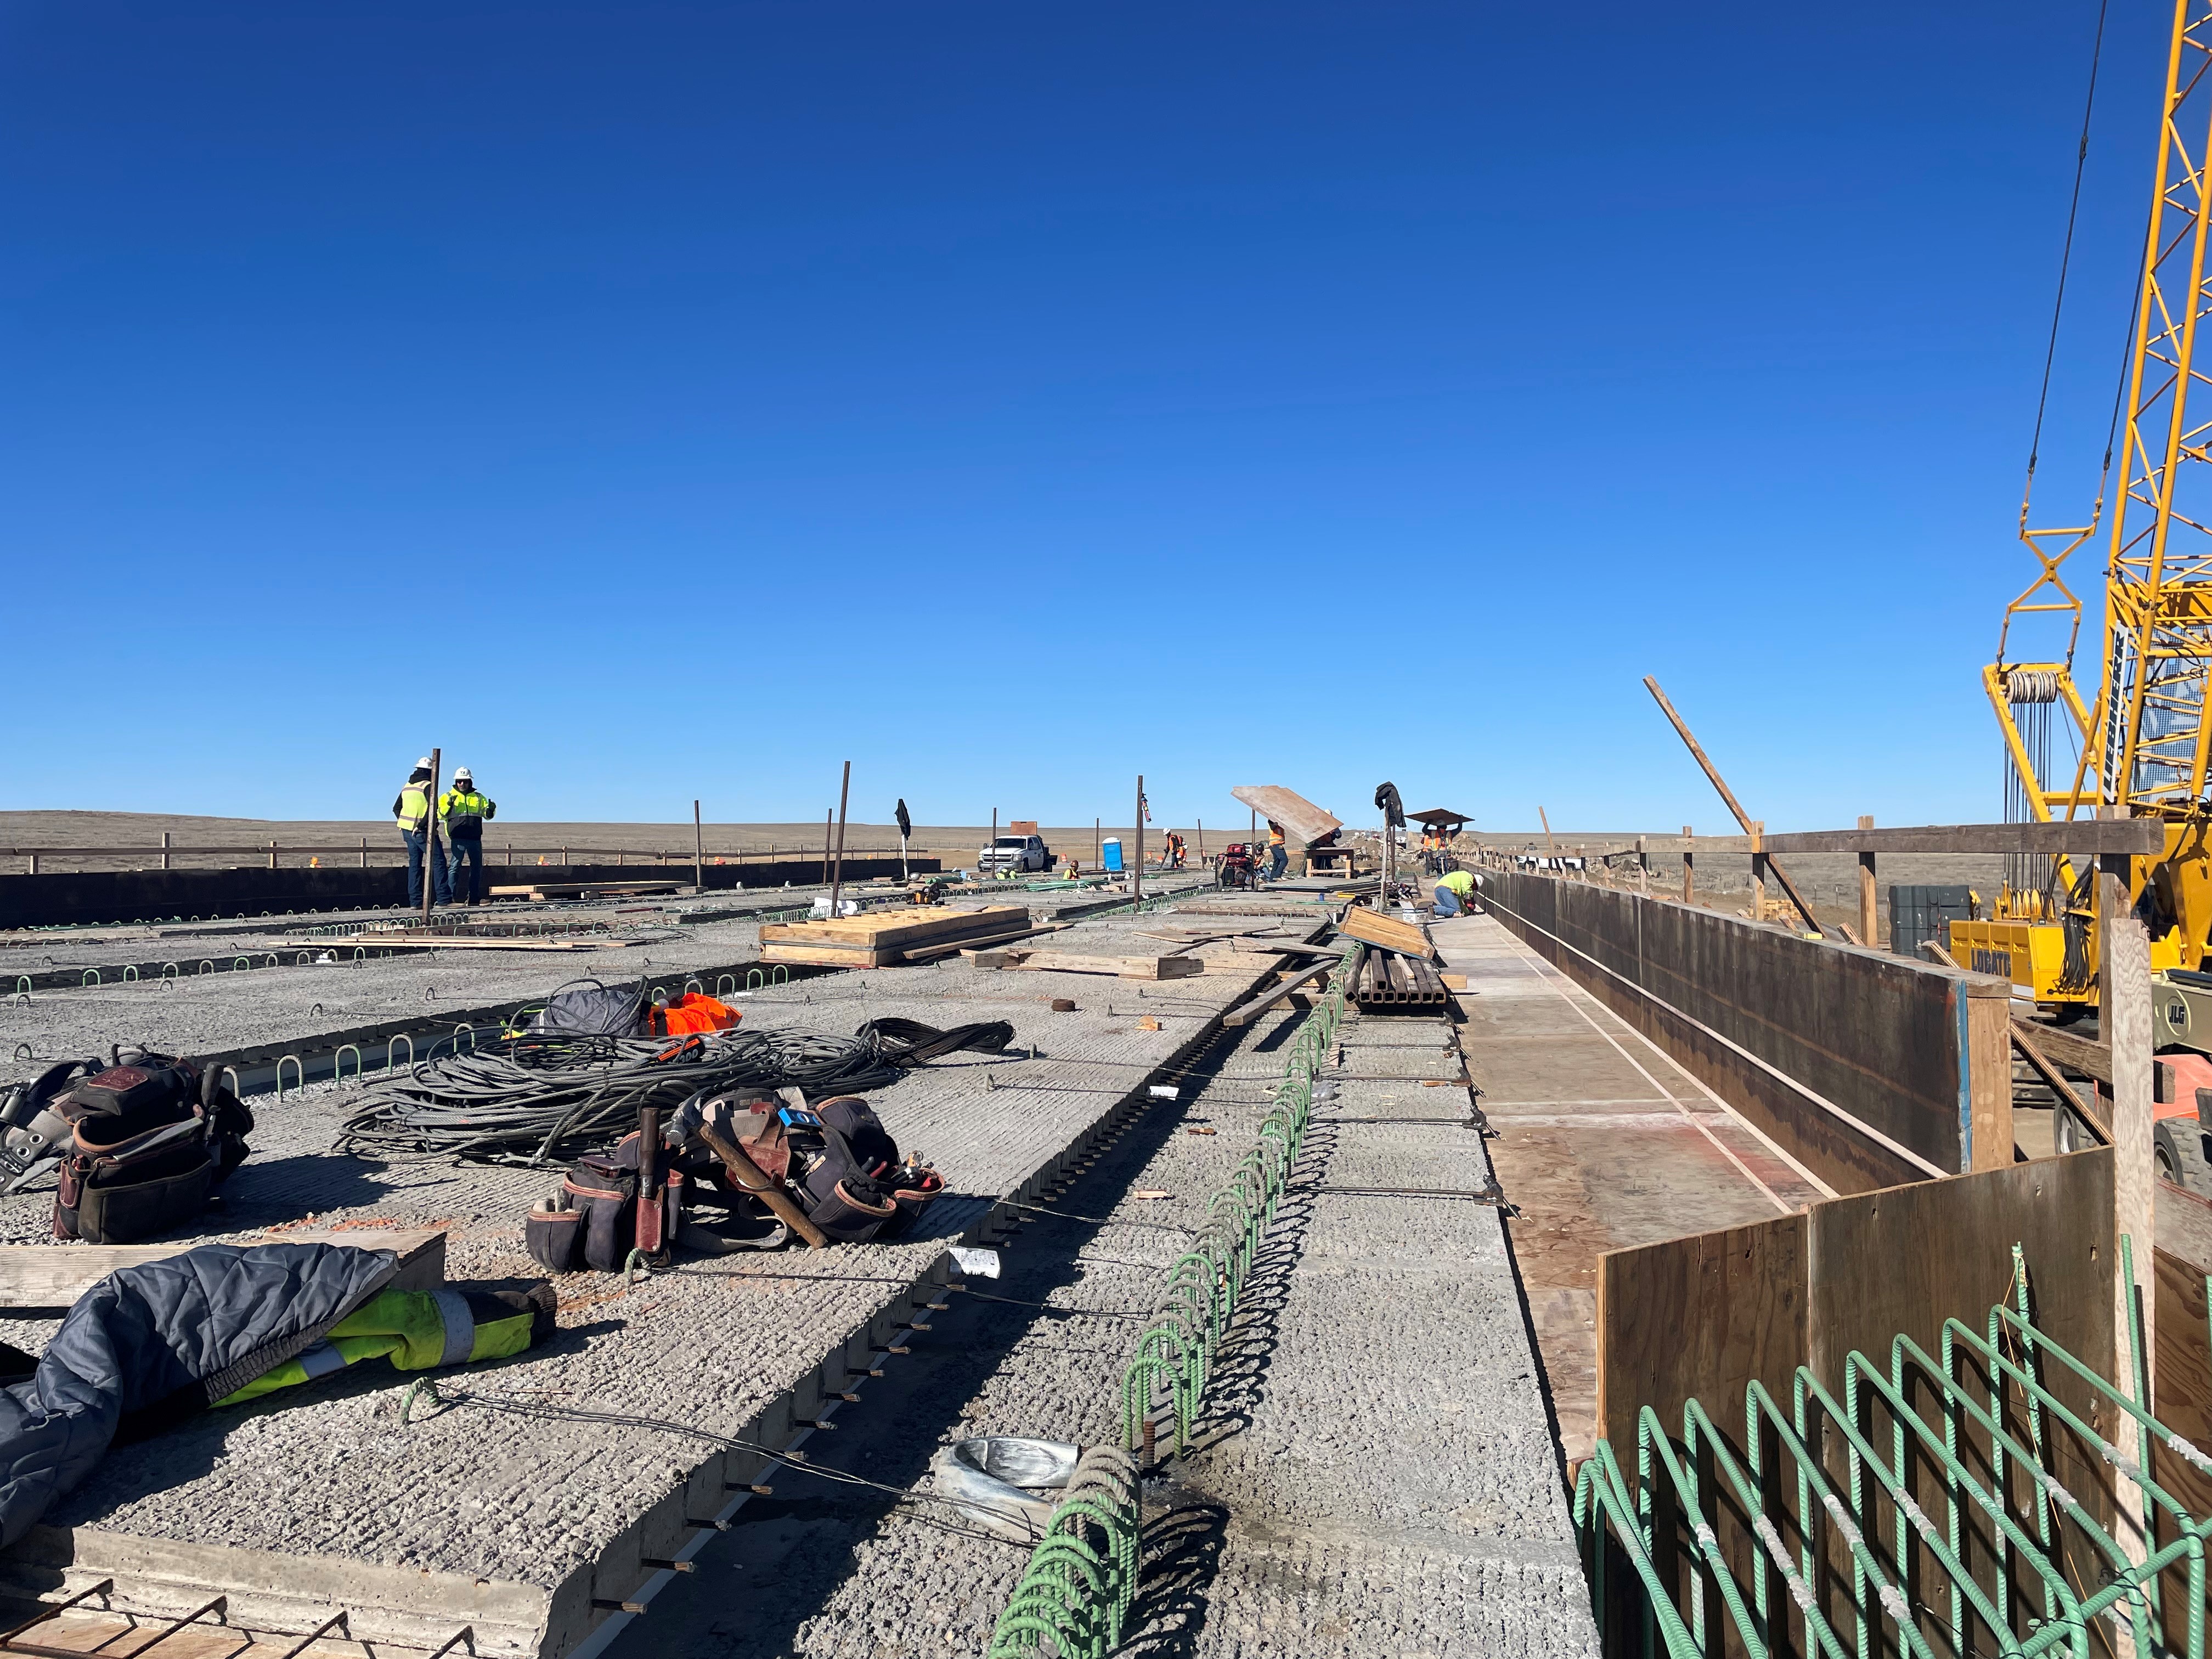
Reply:
<svg viewBox="0 0 2212 1659"><path fill-rule="evenodd" d="M805 818L849 757L869 818L1719 830L1655 672L1774 827L1993 818L2093 27L7 4L0 805L376 816L440 743L515 818Z"/></svg>

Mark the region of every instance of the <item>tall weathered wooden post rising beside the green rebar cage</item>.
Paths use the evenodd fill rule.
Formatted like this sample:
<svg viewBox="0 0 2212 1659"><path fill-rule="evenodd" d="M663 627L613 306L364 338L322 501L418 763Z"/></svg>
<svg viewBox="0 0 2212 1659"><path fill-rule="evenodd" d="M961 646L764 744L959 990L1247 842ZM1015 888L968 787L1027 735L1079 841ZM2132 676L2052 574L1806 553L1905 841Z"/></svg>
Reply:
<svg viewBox="0 0 2212 1659"><path fill-rule="evenodd" d="M2119 807L2101 807L2097 816L2119 818ZM2132 1318L2141 1318L2143 1371L2150 1376L2150 1360L2157 1354L2157 1329L2152 1325L2152 1250L2157 1248L2157 1164L2152 1161L2152 1060L2150 1060L2150 936L2135 916L2130 902L2128 854L2101 854L2097 858L2097 1035L2110 1044L2112 1053L2112 1232L2130 1241L2135 1252L2135 1285L2121 1272L2119 1237L2112 1239L2112 1274L2119 1285L2115 1298L2117 1327L2112 1332L2112 1356L2121 1371L2124 1394L2132 1394L2135 1378L2128 1376L2128 1356L2135 1352ZM2141 1303L2137 1305L2137 1292ZM2154 1378L2152 1378L2154 1385ZM2150 1398L2157 1398L2152 1391ZM2143 1460L2143 1444L2137 1436L2135 1418L2119 1420L2121 1433L2115 1444L2137 1462ZM2121 1528L2119 1544L2135 1562L2146 1559L2148 1537L2143 1531L2143 1495L2132 1480L2112 1482L2119 1511L2130 1526Z"/></svg>

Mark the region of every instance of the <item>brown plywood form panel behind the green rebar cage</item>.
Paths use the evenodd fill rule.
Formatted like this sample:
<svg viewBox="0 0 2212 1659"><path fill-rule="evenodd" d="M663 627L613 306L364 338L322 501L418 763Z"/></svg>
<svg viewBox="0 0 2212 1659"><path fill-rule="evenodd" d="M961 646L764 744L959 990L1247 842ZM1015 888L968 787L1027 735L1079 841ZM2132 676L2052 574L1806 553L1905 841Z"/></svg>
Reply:
<svg viewBox="0 0 2212 1659"><path fill-rule="evenodd" d="M1597 1287L1599 1431L1613 1444L1621 1471L1635 1480L1641 1411L1650 1407L1666 1436L1681 1447L1683 1405L1694 1398L1739 1462L1750 1464L1743 1407L1750 1383L1765 1385L1787 1418L1798 1367L1843 1400L1849 1356L1858 1354L1889 1376L1891 1343L1898 1336L1918 1343L1936 1358L1940 1371L1944 1321L1958 1318L1969 1329L1984 1332L1991 1305L2013 1301L2013 1245L2020 1245L2026 1259L2026 1285L2037 1325L2084 1365L2110 1378L2117 1374L2110 1239L2112 1152L2097 1148L2004 1170L1860 1192L1774 1221L1608 1252L1599 1259ZM2168 1261L2161 1256L2161 1279ZM2163 1296L2159 1307L2163 1352L2170 1340L2168 1327L2181 1321L2168 1318ZM2201 1276L2197 1310L2199 1356L2188 1376L2203 1389ZM2177 1334L2172 1340L2179 1345L2188 1338ZM2177 1367L2177 1380L2181 1374ZM1905 1378L1902 1391L1911 1407L1922 1420L1940 1425L1933 1378L1911 1363L1905 1367ZM2055 1365L2044 1367L2044 1378L2084 1420L2099 1422L2084 1383ZM1891 1418L1871 1389L1865 1398L1869 1440L1887 1455ZM2104 1433L2115 1431L2108 1420L2099 1427ZM1971 1422L1960 1433L1960 1455L1969 1464L1989 1467L1986 1436ZM1827 1429L1814 1440L1820 1444L1829 1480L1838 1491L1849 1491L1840 1436ZM1911 1438L1907 1444L1913 1444ZM2051 1449L2053 1475L2081 1500L2084 1509L2110 1526L2112 1480L2095 1449L2066 1433L2051 1433ZM1767 1471L1790 1469L1772 1429L1763 1436L1756 1462ZM1940 1517L1944 1482L1938 1462L1924 1451L1911 1451L1907 1469L1916 1502ZM2161 1460L2161 1480L2166 1473L2168 1460ZM1776 1480L1790 1484L1787 1473ZM1747 1584L1761 1544L1734 1498L1723 1493L1719 1482L1712 1491L1719 1546L1732 1562L1739 1584ZM1876 1491L1871 1480L1867 1491ZM1655 1482L1650 1502L1659 1517L1655 1559L1663 1566L1661 1577L1681 1584L1697 1540L1672 1509L1666 1482ZM1776 1506L1772 1520L1783 1524L1787 1515ZM1869 1498L1869 1531L1876 1520L1882 1522L1885 1537L1896 1535L1893 1511L1885 1513L1882 1502ZM2004 1566L1993 1528L1980 1513L1966 1515L1962 1526L1964 1559L1978 1582L2002 1601L1997 1575ZM1825 1533L1807 1546L1825 1562L1818 1593L1825 1601L1834 1601L1836 1586L1851 1579L1851 1562L1834 1531ZM1792 1551L1801 1542L1805 1540L1794 1533L1787 1537ZM2066 1540L2066 1564L2081 1584L2095 1584L2101 1571L2086 1544L2075 1537ZM1922 1584L1940 1582L1933 1557L1916 1562L1913 1571ZM2017 1564L2013 1571L2020 1571ZM1832 1617L1847 1621L1847 1615L1836 1615L1834 1608ZM1783 1632L1778 1652L1805 1652L1801 1637L1801 1628ZM1889 1632L1876 1648L1880 1655L1896 1650ZM1615 1650L1610 1641L1608 1650ZM1739 1650L1732 1635L1717 1648L1717 1652Z"/></svg>

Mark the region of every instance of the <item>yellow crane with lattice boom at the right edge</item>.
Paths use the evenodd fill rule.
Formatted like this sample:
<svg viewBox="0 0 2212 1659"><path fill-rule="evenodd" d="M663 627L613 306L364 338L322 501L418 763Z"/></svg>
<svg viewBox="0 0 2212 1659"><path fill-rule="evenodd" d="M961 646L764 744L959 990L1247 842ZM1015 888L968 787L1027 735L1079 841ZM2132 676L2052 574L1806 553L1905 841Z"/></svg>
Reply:
<svg viewBox="0 0 2212 1659"><path fill-rule="evenodd" d="M2084 126L2084 153L2086 153ZM2205 237L2212 164L2212 0L2177 0L2159 126L2157 188L2143 248L2119 427L2121 489L2112 502L2104 580L2104 668L2095 703L2075 686L2081 599L2062 566L2099 533L2104 487L2090 522L2028 529L2020 540L2039 575L2004 608L1997 661L1982 686L2006 750L2006 818L2088 816L2099 807L2166 821L2166 854L2137 858L2130 894L2150 931L2150 967L2192 975L2212 953L2212 803L2205 801L2205 681L2212 670L2212 400L2199 394L2199 323L2212 310ZM2075 179L2079 201L2079 175ZM2068 230L2068 241L2070 241ZM2064 276L2062 276L2064 292ZM2053 319L2053 332L2057 323ZM2212 365L2212 352L2205 354ZM2044 369L2048 389L2048 363ZM2199 394L2199 414L2190 398ZM2039 418L2037 418L2039 431ZM2106 456L2110 478L2112 456ZM2028 458L2028 484L2035 458ZM2017 617L2059 613L2070 633L2059 661L2008 661ZM2051 787L2053 710L2073 739L2073 776ZM2062 761L2064 765L2064 761ZM1991 914L1951 925L1964 967L2004 973L2059 1020L2097 1002L2095 878L2066 858L2006 858ZM2212 984L2212 982L2208 982Z"/></svg>

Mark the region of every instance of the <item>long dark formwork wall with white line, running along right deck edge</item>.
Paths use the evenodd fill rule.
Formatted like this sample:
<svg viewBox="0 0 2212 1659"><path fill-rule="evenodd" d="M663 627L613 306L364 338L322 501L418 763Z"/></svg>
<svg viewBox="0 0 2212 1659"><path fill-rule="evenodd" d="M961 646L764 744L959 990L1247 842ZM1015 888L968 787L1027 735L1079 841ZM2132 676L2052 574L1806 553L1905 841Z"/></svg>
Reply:
<svg viewBox="0 0 2212 1659"><path fill-rule="evenodd" d="M1975 1157L1969 1088L1971 1051L2004 1064L2002 982L1551 876L1486 869L1482 896L1838 1192L2011 1164L2008 1093Z"/></svg>

